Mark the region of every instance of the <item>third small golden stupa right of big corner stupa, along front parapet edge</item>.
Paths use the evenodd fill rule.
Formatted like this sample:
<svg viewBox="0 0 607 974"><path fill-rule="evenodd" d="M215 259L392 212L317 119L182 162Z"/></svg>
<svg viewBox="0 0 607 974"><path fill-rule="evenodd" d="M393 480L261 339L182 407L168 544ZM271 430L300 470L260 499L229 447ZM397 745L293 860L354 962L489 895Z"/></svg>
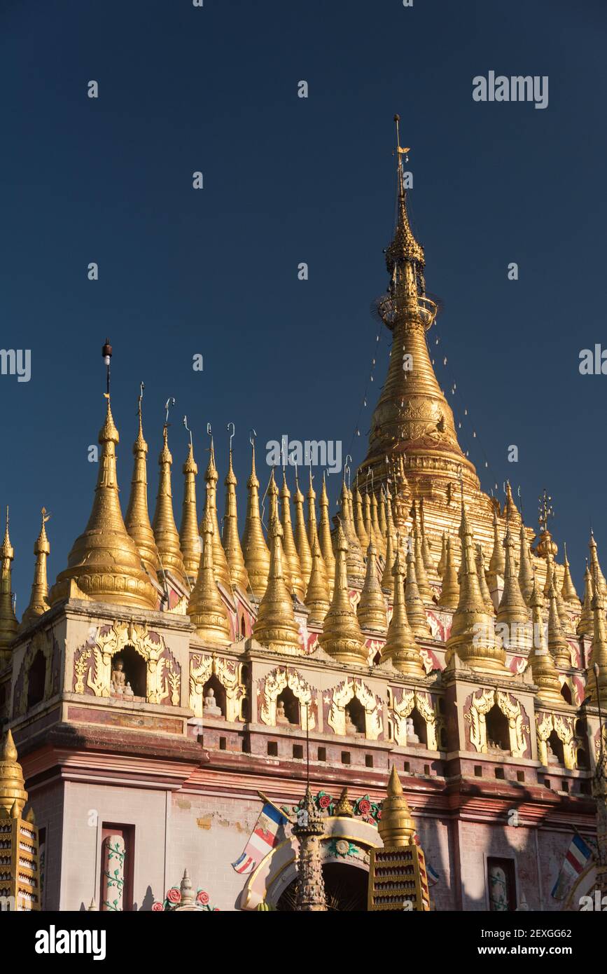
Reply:
<svg viewBox="0 0 607 974"><path fill-rule="evenodd" d="M345 484L344 484L345 486ZM330 656L343 663L366 663L367 647L348 594L346 556L348 542L341 521L336 534L336 572L331 608L318 642Z"/></svg>

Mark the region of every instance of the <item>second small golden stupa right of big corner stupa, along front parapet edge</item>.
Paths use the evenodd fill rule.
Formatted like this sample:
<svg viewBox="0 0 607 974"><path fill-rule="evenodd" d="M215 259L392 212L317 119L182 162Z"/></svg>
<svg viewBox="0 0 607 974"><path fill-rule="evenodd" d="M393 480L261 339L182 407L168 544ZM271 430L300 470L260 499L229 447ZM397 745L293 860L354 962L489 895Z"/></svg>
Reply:
<svg viewBox="0 0 607 974"><path fill-rule="evenodd" d="M277 517L269 522L268 587L260 603L253 636L268 649L291 656L301 652L300 630L293 613L293 601L283 577L282 525Z"/></svg>

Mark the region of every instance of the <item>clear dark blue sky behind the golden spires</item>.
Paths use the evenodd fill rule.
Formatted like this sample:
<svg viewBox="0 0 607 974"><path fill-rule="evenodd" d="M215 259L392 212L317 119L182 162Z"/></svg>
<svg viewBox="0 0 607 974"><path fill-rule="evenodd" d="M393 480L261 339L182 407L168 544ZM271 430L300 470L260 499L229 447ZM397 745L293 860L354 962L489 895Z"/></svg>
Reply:
<svg viewBox="0 0 607 974"><path fill-rule="evenodd" d="M250 427L262 480L281 433L347 452L386 285L395 111L464 445L485 489L521 485L527 520L549 488L578 584L590 518L607 569L607 376L578 371L581 349L607 347L606 25L602 0L3 0L0 344L32 356L29 383L0 376L19 613L40 507L53 580L89 516L106 334L124 505L142 379L151 511L168 395L178 520L184 412L201 470L212 424L221 482L235 424L241 515ZM549 107L473 101L489 70L548 75Z"/></svg>

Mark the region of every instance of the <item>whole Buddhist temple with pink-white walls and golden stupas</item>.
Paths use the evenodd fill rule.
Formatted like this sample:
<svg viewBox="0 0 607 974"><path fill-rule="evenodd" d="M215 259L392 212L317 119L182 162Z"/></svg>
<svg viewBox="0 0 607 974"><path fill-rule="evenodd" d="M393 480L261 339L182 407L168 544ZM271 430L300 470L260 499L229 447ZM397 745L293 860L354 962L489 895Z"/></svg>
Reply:
<svg viewBox="0 0 607 974"><path fill-rule="evenodd" d="M321 475L261 468L254 437L245 499L231 436L220 530L214 444L199 473L170 400L151 515L143 389L123 513L109 371L89 522L50 585L43 509L20 619L7 512L0 892L15 909L557 911L605 891L597 543L581 600L550 498L536 533L460 447L396 121L376 303L392 351L339 515Z"/></svg>

